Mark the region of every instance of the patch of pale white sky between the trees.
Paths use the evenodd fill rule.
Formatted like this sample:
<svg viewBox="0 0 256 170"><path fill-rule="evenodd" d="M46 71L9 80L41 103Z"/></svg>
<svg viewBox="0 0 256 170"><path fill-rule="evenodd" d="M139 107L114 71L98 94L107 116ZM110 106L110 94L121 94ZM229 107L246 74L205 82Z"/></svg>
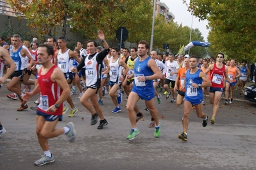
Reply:
<svg viewBox="0 0 256 170"><path fill-rule="evenodd" d="M207 42L207 36L209 34L209 29L207 29L207 20L200 21L198 18L193 17L192 22L192 15L190 12L187 11L186 4L182 3L182 0L160 0L161 3L165 3L168 8L169 12L175 15L174 22L178 24L182 24L182 26L189 26L192 28L198 28L203 35L205 42ZM189 2L189 1L188 1ZM191 40L192 41L192 40Z"/></svg>

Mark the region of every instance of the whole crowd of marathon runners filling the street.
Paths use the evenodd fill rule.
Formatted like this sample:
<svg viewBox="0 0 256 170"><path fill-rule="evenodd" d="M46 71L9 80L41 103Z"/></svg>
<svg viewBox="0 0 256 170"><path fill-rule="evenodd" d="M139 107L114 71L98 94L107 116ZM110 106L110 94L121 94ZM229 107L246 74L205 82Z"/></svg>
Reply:
<svg viewBox="0 0 256 170"><path fill-rule="evenodd" d="M28 109L27 101L31 97L38 97L35 106L30 107L37 112L36 132L44 151L44 157L35 162L37 166L55 161L47 139L65 134L70 142L75 141L76 130L72 122L64 128L56 128L56 124L69 109L68 116L76 116L78 109L73 103L76 91L79 91L81 105L91 114L90 125L96 125L99 119L98 129L108 125L101 109L105 95L112 99L113 113L126 109L132 127L126 137L128 140L140 133L137 122L144 116L140 109L151 114L149 127L155 128L155 137L160 136L155 97L161 104L162 95L166 95L170 104L183 104L183 130L178 138L187 141L191 109L196 109L203 127L207 126L208 119L210 123L216 123L223 92L225 104L232 104L234 89L239 88L242 95L246 79L250 76L247 61L243 60L239 66L234 59L225 61L221 52L215 59L199 59L189 54L157 54L154 50L149 53L149 43L144 40L137 47L119 50L108 46L102 31L98 31L98 38L103 47L89 40L85 49L83 42L77 42L74 50L67 48L64 36L57 40L49 37L40 45L37 38L30 43L22 41L19 35L13 35L10 45L0 38L0 88L10 78L7 89L11 93L7 97L21 101L17 108L19 112ZM31 79L31 74L35 79ZM203 113L206 93L210 104L214 105L211 117ZM126 108L121 108L123 99ZM144 108L137 106L140 99L145 101ZM6 130L0 123L0 135L4 132Z"/></svg>

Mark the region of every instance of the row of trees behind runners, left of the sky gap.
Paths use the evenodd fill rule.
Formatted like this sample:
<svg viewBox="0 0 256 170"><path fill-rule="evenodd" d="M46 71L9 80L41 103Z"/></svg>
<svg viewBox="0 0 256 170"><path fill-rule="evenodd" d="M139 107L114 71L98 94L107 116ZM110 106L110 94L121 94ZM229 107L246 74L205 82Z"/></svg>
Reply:
<svg viewBox="0 0 256 170"><path fill-rule="evenodd" d="M41 39L55 35L55 28L62 26L65 36L66 25L71 31L82 33L86 39L95 39L97 31L103 30L107 40L115 40L120 26L129 31L128 42L146 40L150 42L153 17L152 0L10 0L14 10L24 14L30 29ZM163 44L169 43L171 52L178 52L180 45L189 43L191 29L176 22L166 22L164 15L155 19L153 49L164 51ZM199 29L192 29L191 40L203 41ZM115 45L113 41L110 45ZM207 50L193 47L191 54L204 57Z"/></svg>

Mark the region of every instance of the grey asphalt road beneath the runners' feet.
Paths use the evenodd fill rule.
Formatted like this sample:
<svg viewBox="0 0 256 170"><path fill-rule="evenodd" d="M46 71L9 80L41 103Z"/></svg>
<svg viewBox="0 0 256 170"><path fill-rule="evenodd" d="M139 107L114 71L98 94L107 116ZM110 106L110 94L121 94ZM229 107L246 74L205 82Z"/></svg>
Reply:
<svg viewBox="0 0 256 170"><path fill-rule="evenodd" d="M144 102L138 106L144 118L137 123L141 134L133 141L126 140L130 132L130 121L121 104L122 111L114 114L114 105L109 96L103 98L101 106L108 125L98 130L90 125L89 112L80 104L78 92L73 101L79 112L74 118L64 115L57 127L73 121L77 140L69 143L65 135L49 139L49 147L55 162L42 167L34 165L43 155L35 134L35 112L26 109L17 112L20 102L6 98L6 86L0 90L0 120L6 133L0 136L0 169L255 169L256 157L256 112L252 102L239 95L233 104L223 105L221 100L216 124L203 128L202 120L191 111L188 141L178 139L182 132L183 105L177 107L163 95L162 103L156 107L161 122L160 138L153 136L149 128L150 116L144 111ZM237 92L238 93L238 92ZM123 97L124 99L125 97ZM34 97L28 106L35 105ZM203 111L212 116L212 105L205 97ZM69 109L70 111L70 109Z"/></svg>

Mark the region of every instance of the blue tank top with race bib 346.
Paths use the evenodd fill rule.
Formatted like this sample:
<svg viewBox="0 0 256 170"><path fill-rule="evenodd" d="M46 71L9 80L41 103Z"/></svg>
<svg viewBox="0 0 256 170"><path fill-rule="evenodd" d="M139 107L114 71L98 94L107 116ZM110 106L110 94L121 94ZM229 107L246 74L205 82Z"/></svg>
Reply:
<svg viewBox="0 0 256 170"><path fill-rule="evenodd" d="M194 88L192 82L196 84L202 84L203 79L199 77L201 69L198 69L195 73L190 73L191 69L187 70L186 73L186 85L185 85L185 100L194 104L203 100L203 90L201 88Z"/></svg>

